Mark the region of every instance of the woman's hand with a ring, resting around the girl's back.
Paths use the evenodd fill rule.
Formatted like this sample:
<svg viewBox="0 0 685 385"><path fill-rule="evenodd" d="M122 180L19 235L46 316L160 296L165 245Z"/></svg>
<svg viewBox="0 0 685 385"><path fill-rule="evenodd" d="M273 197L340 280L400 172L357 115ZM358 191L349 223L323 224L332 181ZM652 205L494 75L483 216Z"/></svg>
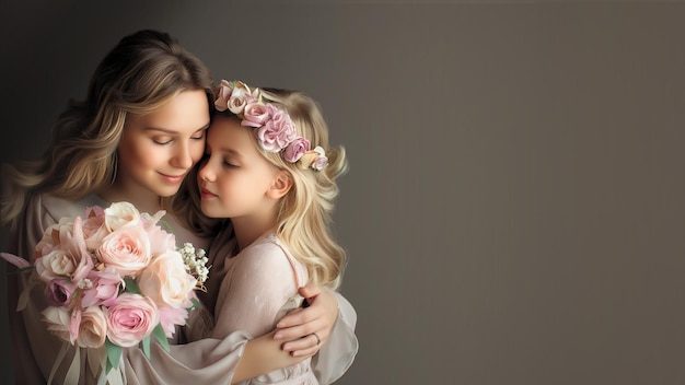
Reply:
<svg viewBox="0 0 685 385"><path fill-rule="evenodd" d="M309 284L298 291L309 303L290 312L276 324L275 339L282 339L282 349L292 357L313 355L326 343L338 317L338 301L327 290ZM318 338L317 338L318 337Z"/></svg>

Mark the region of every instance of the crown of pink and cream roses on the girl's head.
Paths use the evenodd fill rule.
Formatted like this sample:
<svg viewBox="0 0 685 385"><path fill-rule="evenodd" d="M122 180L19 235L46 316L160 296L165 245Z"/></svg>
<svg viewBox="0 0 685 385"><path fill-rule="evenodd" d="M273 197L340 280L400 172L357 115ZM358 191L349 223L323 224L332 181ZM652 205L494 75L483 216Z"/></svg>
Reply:
<svg viewBox="0 0 685 385"><path fill-rule="evenodd" d="M312 167L317 171L328 164L324 149L317 145L311 150L310 141L298 137L288 113L263 102L259 89L251 90L236 80L222 80L214 107L235 114L242 119L241 126L256 128L259 145L268 152L280 152L286 162L298 163L303 170Z"/></svg>

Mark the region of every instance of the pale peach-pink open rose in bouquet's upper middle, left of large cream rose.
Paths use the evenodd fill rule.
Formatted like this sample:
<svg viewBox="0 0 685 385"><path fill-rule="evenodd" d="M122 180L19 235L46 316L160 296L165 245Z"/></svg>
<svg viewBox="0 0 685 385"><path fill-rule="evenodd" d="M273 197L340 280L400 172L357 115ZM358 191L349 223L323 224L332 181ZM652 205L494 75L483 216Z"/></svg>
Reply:
<svg viewBox="0 0 685 385"><path fill-rule="evenodd" d="M142 225L121 228L105 236L97 255L121 276L136 276L150 262L148 232Z"/></svg>

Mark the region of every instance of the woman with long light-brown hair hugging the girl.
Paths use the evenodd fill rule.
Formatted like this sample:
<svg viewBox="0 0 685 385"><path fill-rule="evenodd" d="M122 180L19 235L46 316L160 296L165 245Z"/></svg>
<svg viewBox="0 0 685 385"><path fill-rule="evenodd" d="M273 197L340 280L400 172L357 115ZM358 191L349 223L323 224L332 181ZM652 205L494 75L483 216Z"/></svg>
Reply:
<svg viewBox="0 0 685 385"><path fill-rule="evenodd" d="M93 73L86 100L72 102L60 116L44 158L3 168L0 217L10 228L8 252L28 258L44 230L60 218L121 200L150 213L167 209L165 220L177 244L208 247L218 228L197 214L199 210L184 210L191 207L189 200L184 194L175 195L185 191L184 178L195 179L186 176L205 151L213 92L206 66L167 34L140 31L124 37ZM186 221L191 226L179 224ZM36 285L25 310L15 311L26 280L27 275L8 277L15 383L45 384L54 369L55 384L95 383L97 375L84 363L85 354L80 354L78 380L66 378L76 350L61 361L56 359L61 342L40 319L46 306L43 288ZM171 354L153 345L150 360L141 349L127 348L120 366L125 381L228 384L299 362L320 348L311 338L299 337L312 331L328 336L337 317L337 307L330 306L336 298L322 294L310 308L283 319L294 327L279 330L285 340L297 339L282 349L293 355L302 353L299 358L285 353L282 340L275 340L274 332L248 341L244 331L236 331L224 339L172 346ZM317 311L304 316L315 306ZM307 322L298 325L303 319ZM344 332L349 330L344 328ZM355 340L353 335L347 338Z"/></svg>

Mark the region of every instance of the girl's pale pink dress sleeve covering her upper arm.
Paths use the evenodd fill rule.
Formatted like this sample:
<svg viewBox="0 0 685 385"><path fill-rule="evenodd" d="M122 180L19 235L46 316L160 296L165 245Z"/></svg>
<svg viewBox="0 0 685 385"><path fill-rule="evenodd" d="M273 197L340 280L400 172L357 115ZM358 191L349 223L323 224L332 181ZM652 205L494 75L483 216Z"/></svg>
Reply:
<svg viewBox="0 0 685 385"><path fill-rule="evenodd" d="M295 296L303 269L277 244L253 244L230 261L217 298L214 338L234 330L262 336L274 329L281 307Z"/></svg>

